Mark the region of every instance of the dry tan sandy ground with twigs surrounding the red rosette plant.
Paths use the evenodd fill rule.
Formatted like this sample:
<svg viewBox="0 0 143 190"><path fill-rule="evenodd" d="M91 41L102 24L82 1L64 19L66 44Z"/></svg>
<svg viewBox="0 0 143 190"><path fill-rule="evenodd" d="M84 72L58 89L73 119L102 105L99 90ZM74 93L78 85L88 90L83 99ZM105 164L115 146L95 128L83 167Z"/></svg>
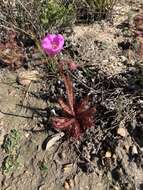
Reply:
<svg viewBox="0 0 143 190"><path fill-rule="evenodd" d="M143 8L141 0L122 1L115 7L112 24L102 21L74 26L70 36L65 33L63 56L72 57L80 65L92 66L92 76L82 71L75 73L75 91L80 96L85 92L92 94L93 104L99 111L96 129L88 131L77 144L62 140L50 151L43 150L45 139L55 133L47 125L48 98L55 93L49 76L45 81L32 83L27 91L16 81L23 68L16 71L1 68L1 190L143 189L143 65L132 48L134 40L130 28L127 31L124 28L124 23L132 26L132 17L141 11L141 6ZM30 69L44 73L45 66L38 68L38 63L34 54L28 64ZM131 81L137 79L136 76L140 76L137 84ZM125 136L117 134L119 127L125 129ZM6 153L3 145L11 129L16 129L21 139ZM98 142L100 151L91 159L90 145L96 150L98 145L95 147L94 143ZM111 152L109 158L106 152ZM10 157L14 159L8 162L12 164L11 170L4 173L2 167Z"/></svg>

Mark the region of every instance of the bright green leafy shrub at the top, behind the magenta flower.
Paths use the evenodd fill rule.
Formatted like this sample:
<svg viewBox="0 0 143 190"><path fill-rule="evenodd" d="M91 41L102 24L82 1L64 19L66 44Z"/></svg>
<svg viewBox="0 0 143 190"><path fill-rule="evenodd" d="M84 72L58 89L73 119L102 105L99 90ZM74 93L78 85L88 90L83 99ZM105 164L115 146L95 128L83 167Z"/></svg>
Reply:
<svg viewBox="0 0 143 190"><path fill-rule="evenodd" d="M67 6L58 0L44 1L41 4L40 20L45 30L70 25L74 19L73 4Z"/></svg>

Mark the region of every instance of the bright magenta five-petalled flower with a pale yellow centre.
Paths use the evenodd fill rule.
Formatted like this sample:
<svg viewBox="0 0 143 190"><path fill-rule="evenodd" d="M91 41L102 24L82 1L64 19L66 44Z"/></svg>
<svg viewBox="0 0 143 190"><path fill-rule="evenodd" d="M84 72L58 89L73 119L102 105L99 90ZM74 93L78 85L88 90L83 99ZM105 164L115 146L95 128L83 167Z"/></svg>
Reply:
<svg viewBox="0 0 143 190"><path fill-rule="evenodd" d="M64 46L64 37L61 34L47 34L41 41L41 47L49 56L57 55Z"/></svg>

